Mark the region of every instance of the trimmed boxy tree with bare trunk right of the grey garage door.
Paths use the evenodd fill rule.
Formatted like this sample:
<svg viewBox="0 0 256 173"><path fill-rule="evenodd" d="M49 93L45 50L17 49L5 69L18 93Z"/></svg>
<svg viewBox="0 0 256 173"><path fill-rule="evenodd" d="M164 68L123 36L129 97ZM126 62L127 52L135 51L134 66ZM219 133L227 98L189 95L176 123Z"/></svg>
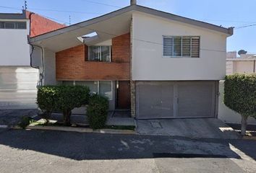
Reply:
<svg viewBox="0 0 256 173"><path fill-rule="evenodd" d="M241 134L245 135L247 118L256 118L256 75L232 74L224 83L224 104L242 115Z"/></svg>

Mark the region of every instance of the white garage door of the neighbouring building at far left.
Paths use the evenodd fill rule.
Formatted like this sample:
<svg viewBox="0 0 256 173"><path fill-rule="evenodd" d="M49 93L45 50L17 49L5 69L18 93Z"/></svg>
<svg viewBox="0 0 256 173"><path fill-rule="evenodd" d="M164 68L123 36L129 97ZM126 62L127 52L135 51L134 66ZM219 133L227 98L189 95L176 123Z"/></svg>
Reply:
<svg viewBox="0 0 256 173"><path fill-rule="evenodd" d="M0 110L36 108L38 70L0 66Z"/></svg>

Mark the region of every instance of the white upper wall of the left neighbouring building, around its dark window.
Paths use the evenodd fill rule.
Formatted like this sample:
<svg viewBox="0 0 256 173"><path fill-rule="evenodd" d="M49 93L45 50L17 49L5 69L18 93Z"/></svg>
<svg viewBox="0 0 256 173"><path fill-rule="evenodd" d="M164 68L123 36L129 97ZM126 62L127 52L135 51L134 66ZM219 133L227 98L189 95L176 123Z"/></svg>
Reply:
<svg viewBox="0 0 256 173"><path fill-rule="evenodd" d="M30 45L27 44L28 19L0 19L0 21L27 22L27 29L0 29L0 66L30 66Z"/></svg>

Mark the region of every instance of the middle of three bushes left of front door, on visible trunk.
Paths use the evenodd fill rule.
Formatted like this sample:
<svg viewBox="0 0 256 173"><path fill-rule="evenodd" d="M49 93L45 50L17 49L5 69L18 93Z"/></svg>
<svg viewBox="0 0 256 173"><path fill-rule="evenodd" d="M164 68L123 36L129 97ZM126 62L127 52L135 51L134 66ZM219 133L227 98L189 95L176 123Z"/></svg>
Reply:
<svg viewBox="0 0 256 173"><path fill-rule="evenodd" d="M57 86L58 99L56 109L63 113L64 125L69 126L71 111L75 107L88 104L90 89L88 86Z"/></svg>

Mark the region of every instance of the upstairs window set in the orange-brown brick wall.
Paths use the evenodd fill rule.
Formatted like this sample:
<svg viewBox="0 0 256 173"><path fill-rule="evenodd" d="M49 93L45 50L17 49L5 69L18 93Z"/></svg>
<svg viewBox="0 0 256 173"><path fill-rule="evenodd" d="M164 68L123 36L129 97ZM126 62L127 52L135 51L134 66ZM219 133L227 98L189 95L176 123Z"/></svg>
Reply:
<svg viewBox="0 0 256 173"><path fill-rule="evenodd" d="M111 46L92 45L89 47L88 61L111 61Z"/></svg>

